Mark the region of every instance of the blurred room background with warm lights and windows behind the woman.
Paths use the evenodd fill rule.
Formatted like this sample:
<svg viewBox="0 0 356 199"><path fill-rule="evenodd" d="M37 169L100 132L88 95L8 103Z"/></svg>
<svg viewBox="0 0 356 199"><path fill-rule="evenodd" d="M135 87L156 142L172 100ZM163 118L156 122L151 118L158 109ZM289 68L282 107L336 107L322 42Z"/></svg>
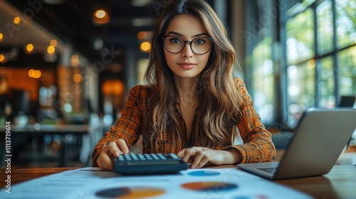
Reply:
<svg viewBox="0 0 356 199"><path fill-rule="evenodd" d="M169 2L0 0L1 158L11 122L12 166L90 166L130 88L144 83ZM309 107L355 108L356 0L208 2L274 135L293 134Z"/></svg>

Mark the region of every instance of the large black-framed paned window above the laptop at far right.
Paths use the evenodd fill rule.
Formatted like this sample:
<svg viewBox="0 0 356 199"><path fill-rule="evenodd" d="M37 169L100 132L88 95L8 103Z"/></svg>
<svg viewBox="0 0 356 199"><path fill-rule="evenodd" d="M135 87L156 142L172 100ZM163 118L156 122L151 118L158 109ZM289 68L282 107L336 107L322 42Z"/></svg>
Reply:
<svg viewBox="0 0 356 199"><path fill-rule="evenodd" d="M356 95L355 13L356 0L305 0L286 11L288 126L308 107L333 108L340 96Z"/></svg>

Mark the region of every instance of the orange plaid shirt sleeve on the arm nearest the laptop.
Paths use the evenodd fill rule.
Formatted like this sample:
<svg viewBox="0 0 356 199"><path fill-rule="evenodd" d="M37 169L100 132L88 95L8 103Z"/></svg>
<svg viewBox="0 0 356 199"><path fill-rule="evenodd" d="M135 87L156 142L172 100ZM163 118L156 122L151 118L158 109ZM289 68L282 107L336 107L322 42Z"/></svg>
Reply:
<svg viewBox="0 0 356 199"><path fill-rule="evenodd" d="M243 98L239 106L240 113L237 127L244 144L230 146L229 149L240 151L242 155L240 163L271 161L276 156L271 133L263 126L244 81L236 78L235 85Z"/></svg>

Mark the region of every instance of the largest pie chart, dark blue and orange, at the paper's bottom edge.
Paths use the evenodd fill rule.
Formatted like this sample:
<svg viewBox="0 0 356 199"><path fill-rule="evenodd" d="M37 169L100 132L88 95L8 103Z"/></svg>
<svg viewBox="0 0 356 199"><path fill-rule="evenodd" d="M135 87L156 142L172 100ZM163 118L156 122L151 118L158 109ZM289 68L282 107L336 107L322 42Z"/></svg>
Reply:
<svg viewBox="0 0 356 199"><path fill-rule="evenodd" d="M150 198L165 193L165 190L152 187L118 187L100 190L95 193L101 198Z"/></svg>

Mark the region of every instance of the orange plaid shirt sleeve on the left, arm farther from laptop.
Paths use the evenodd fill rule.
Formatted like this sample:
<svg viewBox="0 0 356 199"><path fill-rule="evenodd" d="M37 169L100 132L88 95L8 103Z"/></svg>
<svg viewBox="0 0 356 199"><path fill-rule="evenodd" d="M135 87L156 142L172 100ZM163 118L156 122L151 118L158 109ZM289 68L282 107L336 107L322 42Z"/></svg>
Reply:
<svg viewBox="0 0 356 199"><path fill-rule="evenodd" d="M127 99L121 117L117 119L114 126L110 127L110 131L105 133L102 139L98 141L93 149L92 161L93 166L98 166L96 159L103 150L105 143L108 141L117 141L122 138L130 148L139 138L141 134L141 119L142 119L142 100L145 99L147 93L143 90L144 86L139 85L132 88Z"/></svg>

